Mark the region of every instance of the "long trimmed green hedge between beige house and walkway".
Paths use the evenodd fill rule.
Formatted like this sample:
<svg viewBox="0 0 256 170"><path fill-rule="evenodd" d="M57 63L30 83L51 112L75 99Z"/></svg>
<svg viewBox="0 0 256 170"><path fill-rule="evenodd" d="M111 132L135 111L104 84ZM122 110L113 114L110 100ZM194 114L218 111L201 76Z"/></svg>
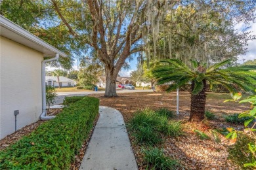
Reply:
<svg viewBox="0 0 256 170"><path fill-rule="evenodd" d="M0 169L70 169L93 127L99 100L84 97L0 152Z"/></svg>

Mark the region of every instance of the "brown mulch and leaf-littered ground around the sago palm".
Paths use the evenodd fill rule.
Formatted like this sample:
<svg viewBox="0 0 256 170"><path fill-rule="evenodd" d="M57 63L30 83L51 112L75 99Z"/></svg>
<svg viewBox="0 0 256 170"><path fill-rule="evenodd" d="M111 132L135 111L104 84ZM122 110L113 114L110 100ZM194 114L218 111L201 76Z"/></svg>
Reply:
<svg viewBox="0 0 256 170"><path fill-rule="evenodd" d="M119 93L118 97L104 97L103 94L92 94L91 96L100 99L100 105L112 107L123 114L125 123L128 123L137 110L150 108L153 110L167 108L176 110L176 93L147 92L147 93ZM229 141L219 135L221 143L215 143L211 129L223 127L235 127L241 129L243 126L228 124L224 122L223 114L240 113L249 109L249 105L238 103L223 103L230 99L228 93L209 93L205 110L210 110L218 116L217 120L203 123L187 122L190 110L190 93L180 93L180 114L176 120L183 122L185 134L179 138L165 137L160 148L163 148L166 155L179 160L186 169L240 169L228 160ZM201 140L194 133L194 129L203 131L211 139ZM128 133L129 133L129 129ZM135 153L139 169L146 169L141 152L142 146L135 143L134 137L129 133L129 138Z"/></svg>

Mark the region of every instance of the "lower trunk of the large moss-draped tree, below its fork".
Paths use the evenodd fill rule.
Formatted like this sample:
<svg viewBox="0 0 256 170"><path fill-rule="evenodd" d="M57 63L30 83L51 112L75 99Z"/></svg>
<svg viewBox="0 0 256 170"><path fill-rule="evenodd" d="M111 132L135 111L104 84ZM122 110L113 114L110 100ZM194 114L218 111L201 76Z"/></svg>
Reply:
<svg viewBox="0 0 256 170"><path fill-rule="evenodd" d="M118 73L118 72L117 72ZM114 68L106 68L106 89L105 97L117 97L116 93L116 78L117 73Z"/></svg>

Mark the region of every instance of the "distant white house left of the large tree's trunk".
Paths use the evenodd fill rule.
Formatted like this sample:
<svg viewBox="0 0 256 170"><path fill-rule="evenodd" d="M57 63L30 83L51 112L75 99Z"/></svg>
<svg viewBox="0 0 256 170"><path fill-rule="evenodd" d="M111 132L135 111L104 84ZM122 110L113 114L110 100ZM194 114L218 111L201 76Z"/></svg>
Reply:
<svg viewBox="0 0 256 170"><path fill-rule="evenodd" d="M76 86L76 82L71 80L70 78L66 78L64 76L59 76L60 79L60 87L74 87ZM45 84L47 86L58 87L58 78L56 76L45 76Z"/></svg>

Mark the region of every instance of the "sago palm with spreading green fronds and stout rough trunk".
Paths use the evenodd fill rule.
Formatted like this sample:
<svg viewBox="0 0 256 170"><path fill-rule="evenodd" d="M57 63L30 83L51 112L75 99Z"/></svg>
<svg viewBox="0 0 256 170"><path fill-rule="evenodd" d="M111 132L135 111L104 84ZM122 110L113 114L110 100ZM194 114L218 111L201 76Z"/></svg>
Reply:
<svg viewBox="0 0 256 170"><path fill-rule="evenodd" d="M158 84L170 84L167 92L176 90L178 87L191 83L191 107L190 121L200 122L204 118L206 101L206 84L210 87L213 83L223 84L230 92L235 92L234 85L239 86L245 92L254 92L256 84L256 65L241 65L221 69L230 63L226 59L206 68L197 61L192 62L192 69L179 59L162 60L163 65L156 68L153 73L158 78Z"/></svg>

